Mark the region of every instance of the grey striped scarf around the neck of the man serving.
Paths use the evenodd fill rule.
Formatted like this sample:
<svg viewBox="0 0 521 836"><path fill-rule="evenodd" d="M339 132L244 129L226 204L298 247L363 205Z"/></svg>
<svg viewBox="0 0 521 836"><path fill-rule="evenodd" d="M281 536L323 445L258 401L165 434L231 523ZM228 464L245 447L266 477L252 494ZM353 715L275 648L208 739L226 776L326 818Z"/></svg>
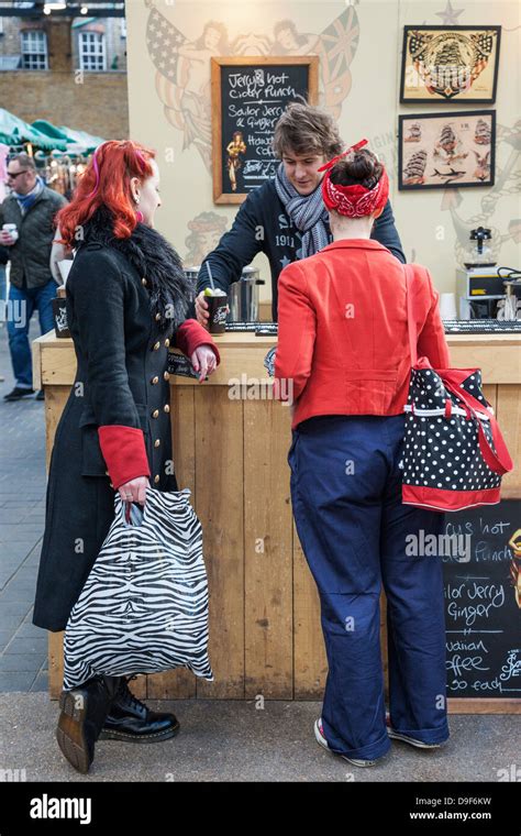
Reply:
<svg viewBox="0 0 521 836"><path fill-rule="evenodd" d="M320 185L311 195L299 195L288 180L284 163L277 168L275 188L284 208L297 229L302 232L302 258L318 253L331 242L328 227L328 209L322 200Z"/></svg>

